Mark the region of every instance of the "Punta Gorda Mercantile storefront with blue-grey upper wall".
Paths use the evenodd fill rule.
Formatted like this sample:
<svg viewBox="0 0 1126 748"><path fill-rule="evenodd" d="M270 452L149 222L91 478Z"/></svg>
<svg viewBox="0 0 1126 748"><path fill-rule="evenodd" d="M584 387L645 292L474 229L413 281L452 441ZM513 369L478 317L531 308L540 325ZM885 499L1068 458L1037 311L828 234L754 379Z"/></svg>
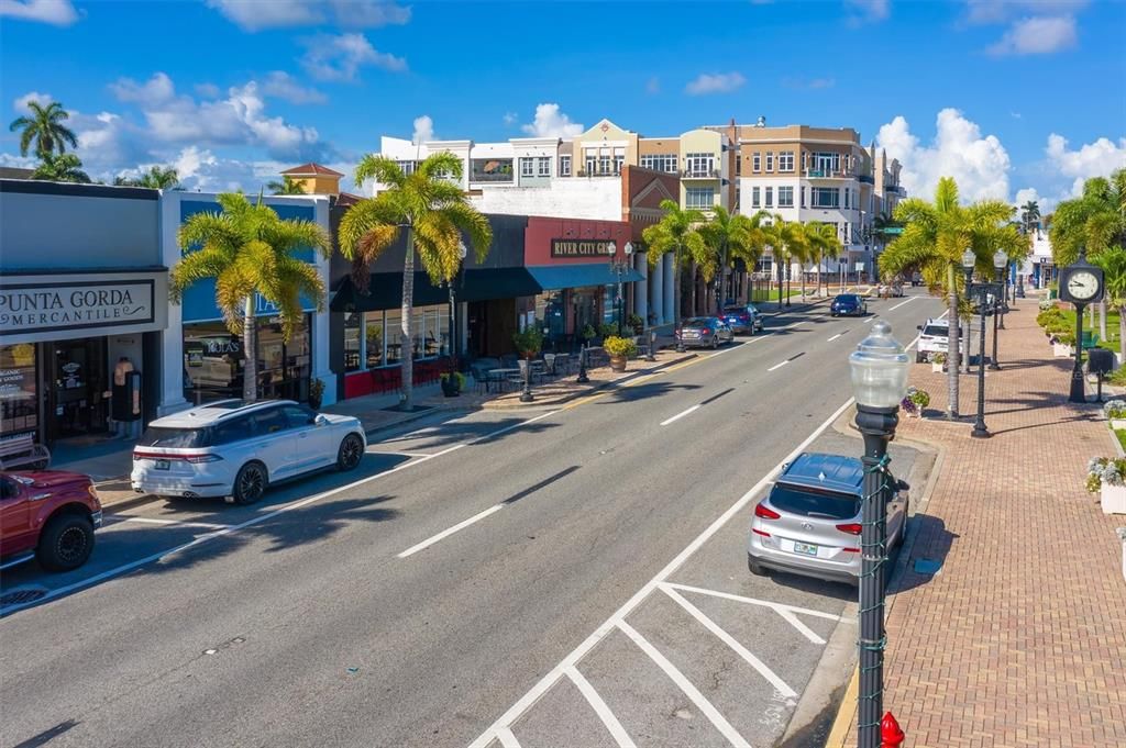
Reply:
<svg viewBox="0 0 1126 748"><path fill-rule="evenodd" d="M160 403L159 192L0 180L0 439L140 432Z"/></svg>

